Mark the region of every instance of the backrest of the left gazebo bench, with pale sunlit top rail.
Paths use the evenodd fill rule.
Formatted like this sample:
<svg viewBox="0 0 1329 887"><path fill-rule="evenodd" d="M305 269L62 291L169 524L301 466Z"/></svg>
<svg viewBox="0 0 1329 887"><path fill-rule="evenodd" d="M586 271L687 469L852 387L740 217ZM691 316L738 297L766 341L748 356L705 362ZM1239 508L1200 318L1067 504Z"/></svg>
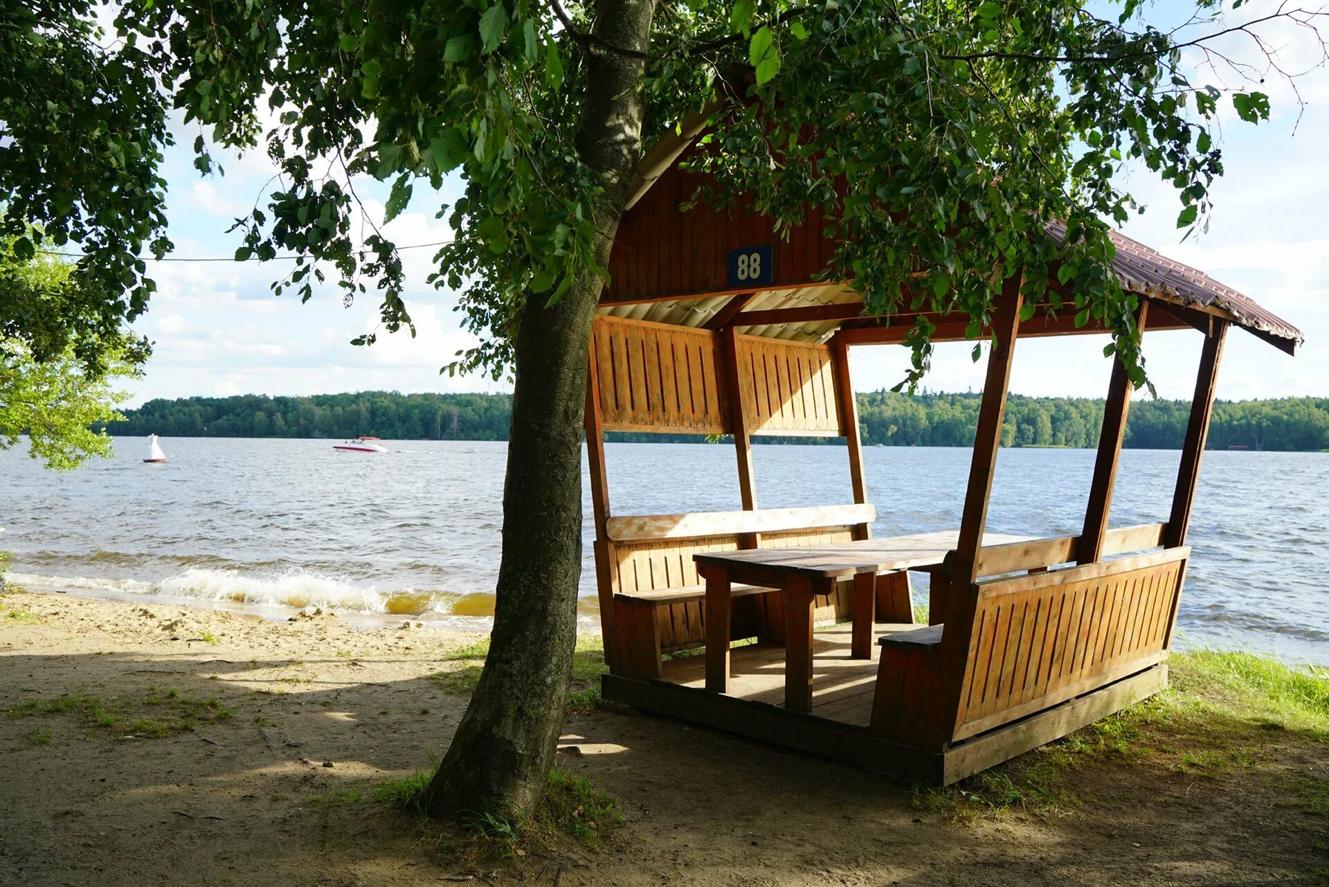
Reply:
<svg viewBox="0 0 1329 887"><path fill-rule="evenodd" d="M704 580L696 572L694 555L738 551L742 537L752 535L762 548L844 543L874 519L876 508L868 504L610 517L610 581L615 594L700 585ZM704 644L703 610L702 602L694 600L668 604L667 612L658 613L661 649Z"/></svg>

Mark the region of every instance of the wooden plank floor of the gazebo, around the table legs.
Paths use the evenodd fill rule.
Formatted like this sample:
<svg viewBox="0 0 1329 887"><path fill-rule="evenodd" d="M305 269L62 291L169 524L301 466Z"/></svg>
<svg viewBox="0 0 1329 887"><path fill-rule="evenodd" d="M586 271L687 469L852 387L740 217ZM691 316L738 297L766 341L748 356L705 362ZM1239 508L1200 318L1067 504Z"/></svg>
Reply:
<svg viewBox="0 0 1329 887"><path fill-rule="evenodd" d="M873 636L905 632L918 625L880 624ZM812 714L865 727L872 715L872 689L881 648L872 645L872 661L849 658L849 624L829 625L815 633L812 654ZM784 648L771 644L734 648L730 653L728 696L784 705ZM664 661L664 680L680 686L706 688L706 657Z"/></svg>

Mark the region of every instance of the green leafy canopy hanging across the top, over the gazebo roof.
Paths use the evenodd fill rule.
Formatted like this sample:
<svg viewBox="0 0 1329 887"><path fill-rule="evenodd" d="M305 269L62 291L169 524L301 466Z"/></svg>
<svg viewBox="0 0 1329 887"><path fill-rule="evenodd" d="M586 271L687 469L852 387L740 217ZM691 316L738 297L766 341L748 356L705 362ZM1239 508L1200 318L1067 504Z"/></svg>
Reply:
<svg viewBox="0 0 1329 887"><path fill-rule="evenodd" d="M595 100L586 60L645 55L647 145L710 117L694 162L716 185L699 199L747 190L783 226L820 205L840 243L828 278L852 279L873 311L964 311L975 338L999 278L1023 267L1026 315L1106 320L1108 351L1140 383L1135 301L1107 267L1108 223L1139 209L1119 173L1143 164L1177 189L1177 225L1200 226L1223 170L1219 102L1252 122L1269 113L1261 93L1192 84L1188 41L1142 24L1138 0L1115 17L1084 0L639 1L654 9L645 53L597 36L594 4L556 0L129 0L118 41L96 37L88 4L41 7L0 29L25 53L0 63L7 73L56 84L31 101L0 96L13 133L0 198L56 242L78 237L102 258L120 249L126 310L140 310L150 285L126 257L167 247L155 169L169 100L199 126L199 170L217 169L213 145L262 146L279 166L239 221L237 253L298 253L279 293L307 299L331 277L346 298L373 293L385 328L409 326L401 262L354 177L391 182L389 219L412 199L436 209L456 239L432 281L462 291L464 322L481 335L451 368L498 375L526 293L557 299L577 275L605 275L591 249L605 191L577 144ZM60 52L43 55L43 40ZM82 86L53 76L56 61ZM9 124L16 106L23 128ZM47 114L68 142L92 145L90 168L72 148L54 176L9 156L48 141ZM445 174L465 184L452 206L427 193ZM1065 238L1046 237L1057 219ZM920 319L910 380L928 368L929 332Z"/></svg>

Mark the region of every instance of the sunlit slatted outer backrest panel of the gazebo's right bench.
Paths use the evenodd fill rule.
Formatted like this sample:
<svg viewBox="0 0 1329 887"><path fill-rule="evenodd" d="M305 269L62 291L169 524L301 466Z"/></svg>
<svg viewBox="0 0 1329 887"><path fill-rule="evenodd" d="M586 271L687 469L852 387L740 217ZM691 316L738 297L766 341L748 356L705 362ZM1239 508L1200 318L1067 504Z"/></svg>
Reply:
<svg viewBox="0 0 1329 887"><path fill-rule="evenodd" d="M953 738L990 730L1163 661L1189 551L1171 548L975 582Z"/></svg>

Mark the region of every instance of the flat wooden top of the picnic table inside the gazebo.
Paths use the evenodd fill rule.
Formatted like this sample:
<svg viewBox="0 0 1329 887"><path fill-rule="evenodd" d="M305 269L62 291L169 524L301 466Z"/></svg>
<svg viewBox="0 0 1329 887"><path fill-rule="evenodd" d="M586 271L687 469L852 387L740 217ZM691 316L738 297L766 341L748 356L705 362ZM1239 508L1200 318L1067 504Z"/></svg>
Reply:
<svg viewBox="0 0 1329 887"><path fill-rule="evenodd" d="M1030 539L1033 536L983 533L983 545L1025 543ZM958 540L958 529L942 529L934 533L888 536L825 545L706 552L694 555L694 560L698 564L730 568L758 568L801 576L840 577L855 573L889 573L898 569L938 567Z"/></svg>

